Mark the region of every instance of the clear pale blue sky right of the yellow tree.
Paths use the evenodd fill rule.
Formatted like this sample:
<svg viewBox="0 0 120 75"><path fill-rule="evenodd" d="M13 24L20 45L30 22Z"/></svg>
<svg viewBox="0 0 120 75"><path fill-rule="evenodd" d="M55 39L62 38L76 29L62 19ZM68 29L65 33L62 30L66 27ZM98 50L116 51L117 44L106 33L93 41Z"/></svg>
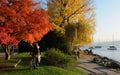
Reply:
<svg viewBox="0 0 120 75"><path fill-rule="evenodd" d="M96 32L94 41L120 40L120 0L94 0Z"/></svg>

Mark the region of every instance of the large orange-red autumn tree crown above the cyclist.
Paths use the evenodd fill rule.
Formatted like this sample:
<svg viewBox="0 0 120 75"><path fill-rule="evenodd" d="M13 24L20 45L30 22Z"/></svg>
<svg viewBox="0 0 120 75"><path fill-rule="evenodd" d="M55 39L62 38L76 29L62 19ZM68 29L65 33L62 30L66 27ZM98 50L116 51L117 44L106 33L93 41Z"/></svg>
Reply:
<svg viewBox="0 0 120 75"><path fill-rule="evenodd" d="M52 26L45 10L38 9L33 0L0 0L0 27L12 30L8 33L17 40L30 44L39 41Z"/></svg>

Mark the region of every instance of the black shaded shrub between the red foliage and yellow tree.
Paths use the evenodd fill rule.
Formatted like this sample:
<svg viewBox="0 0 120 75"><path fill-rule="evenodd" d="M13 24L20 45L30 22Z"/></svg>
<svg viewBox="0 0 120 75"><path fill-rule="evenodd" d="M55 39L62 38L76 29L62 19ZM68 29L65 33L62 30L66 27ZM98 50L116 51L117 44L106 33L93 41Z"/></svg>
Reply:
<svg viewBox="0 0 120 75"><path fill-rule="evenodd" d="M62 50L63 52L67 51L67 45L64 35L57 30L50 31L38 43L42 52L45 52L48 48L57 48Z"/></svg>

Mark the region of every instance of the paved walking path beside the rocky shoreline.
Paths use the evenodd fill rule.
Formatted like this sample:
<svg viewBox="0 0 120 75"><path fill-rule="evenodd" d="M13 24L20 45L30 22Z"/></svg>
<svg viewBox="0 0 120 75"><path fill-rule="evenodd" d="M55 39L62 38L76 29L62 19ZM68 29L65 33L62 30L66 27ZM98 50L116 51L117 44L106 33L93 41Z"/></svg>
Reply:
<svg viewBox="0 0 120 75"><path fill-rule="evenodd" d="M120 75L120 73L115 72L110 68L99 66L98 64L91 62L93 58L94 56L92 55L84 55L78 59L80 64L77 66L77 69L90 75Z"/></svg>

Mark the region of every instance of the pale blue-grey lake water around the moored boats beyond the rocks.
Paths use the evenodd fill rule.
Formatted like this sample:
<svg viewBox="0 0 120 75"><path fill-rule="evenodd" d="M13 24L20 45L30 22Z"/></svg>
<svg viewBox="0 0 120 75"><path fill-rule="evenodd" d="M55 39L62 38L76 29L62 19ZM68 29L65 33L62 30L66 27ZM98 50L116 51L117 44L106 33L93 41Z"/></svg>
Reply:
<svg viewBox="0 0 120 75"><path fill-rule="evenodd" d="M114 45L117 47L117 50L108 50L109 46ZM105 42L105 43L94 43L89 46L82 47L82 49L88 49L89 47L95 47L95 46L102 46L102 48L95 48L92 49L94 54L103 56L103 57L108 57L110 59L116 60L120 62L120 42Z"/></svg>

